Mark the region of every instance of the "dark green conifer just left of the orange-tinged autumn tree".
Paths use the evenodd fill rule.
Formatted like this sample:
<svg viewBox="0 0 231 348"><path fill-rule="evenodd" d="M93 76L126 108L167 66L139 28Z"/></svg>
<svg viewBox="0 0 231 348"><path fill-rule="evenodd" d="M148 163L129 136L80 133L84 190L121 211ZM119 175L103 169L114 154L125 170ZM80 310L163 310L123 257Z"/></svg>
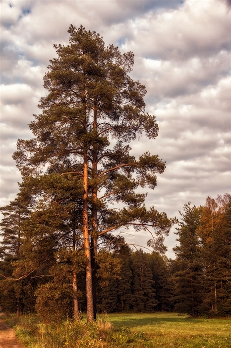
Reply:
<svg viewBox="0 0 231 348"><path fill-rule="evenodd" d="M200 224L200 208L184 205L180 212L181 221L176 228L179 246L173 250L176 259L173 262L173 280L175 283L175 309L193 317L198 313L202 302L202 262L200 241L196 233Z"/></svg>

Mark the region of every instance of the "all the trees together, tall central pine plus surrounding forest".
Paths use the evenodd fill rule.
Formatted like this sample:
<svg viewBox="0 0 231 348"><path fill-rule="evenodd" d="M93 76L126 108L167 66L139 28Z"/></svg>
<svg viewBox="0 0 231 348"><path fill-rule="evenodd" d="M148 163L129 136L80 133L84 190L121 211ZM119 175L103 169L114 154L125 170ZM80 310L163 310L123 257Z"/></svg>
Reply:
<svg viewBox="0 0 231 348"><path fill-rule="evenodd" d="M13 155L22 182L1 208L2 310L45 322L83 311L88 322L123 311L230 316L231 195L186 203L179 221L147 209L139 188L153 190L165 162L130 155L139 135L158 136L145 86L129 77L133 53L82 26L68 32L44 77L34 138ZM173 224L175 260L164 255ZM151 233L151 253L126 244L129 227Z"/></svg>

